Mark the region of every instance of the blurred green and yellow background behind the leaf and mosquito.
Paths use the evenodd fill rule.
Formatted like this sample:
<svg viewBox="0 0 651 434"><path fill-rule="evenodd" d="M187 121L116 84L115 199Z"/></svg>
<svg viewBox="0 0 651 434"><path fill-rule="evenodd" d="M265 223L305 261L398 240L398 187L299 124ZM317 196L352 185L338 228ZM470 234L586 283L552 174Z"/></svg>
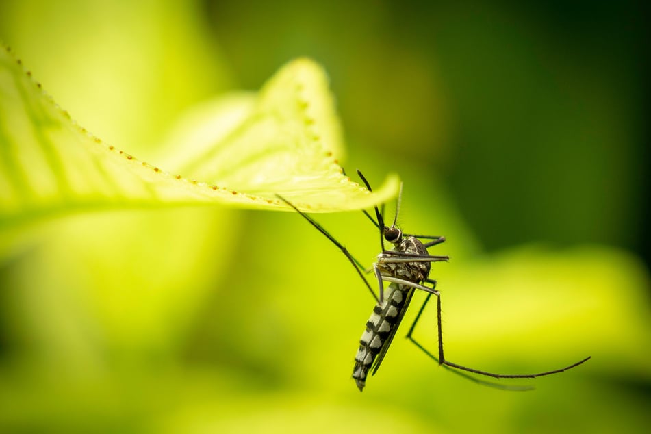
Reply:
<svg viewBox="0 0 651 434"><path fill-rule="evenodd" d="M448 238L435 250L452 261L433 271L448 359L498 372L593 359L503 392L396 338L360 394L350 372L372 298L300 217L75 216L1 264L0 431L645 431L642 12L633 1L2 1L0 39L55 101L147 161L192 105L315 58L348 172L376 184L399 173L400 224ZM361 213L317 217L372 262ZM434 348L427 313L418 336Z"/></svg>

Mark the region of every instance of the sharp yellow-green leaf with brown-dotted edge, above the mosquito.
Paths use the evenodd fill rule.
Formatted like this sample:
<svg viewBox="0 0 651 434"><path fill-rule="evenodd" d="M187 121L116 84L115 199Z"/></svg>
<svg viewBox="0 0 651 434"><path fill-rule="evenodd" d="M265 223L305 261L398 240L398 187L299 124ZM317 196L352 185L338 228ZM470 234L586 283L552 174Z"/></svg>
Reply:
<svg viewBox="0 0 651 434"><path fill-rule="evenodd" d="M397 192L395 176L370 194L342 173L327 79L310 60L290 62L257 95L206 107L146 162L77 125L10 49L0 50L0 230L97 209L220 203L288 210L275 194L306 211L335 212Z"/></svg>

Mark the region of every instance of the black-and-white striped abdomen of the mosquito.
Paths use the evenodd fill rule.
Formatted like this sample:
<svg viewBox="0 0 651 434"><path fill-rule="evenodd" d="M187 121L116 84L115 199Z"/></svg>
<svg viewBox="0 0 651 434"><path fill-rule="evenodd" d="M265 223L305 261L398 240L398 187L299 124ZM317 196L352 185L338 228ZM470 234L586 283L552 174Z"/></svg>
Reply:
<svg viewBox="0 0 651 434"><path fill-rule="evenodd" d="M373 308L373 313L366 322L366 330L359 340L353 379L360 391L366 385L368 371L374 365L373 373L379 368L387 347L391 344L398 325L405 315L413 293L411 288L396 283L392 283L387 289L387 297L383 303L378 303ZM382 353L381 357L377 359L380 353Z"/></svg>

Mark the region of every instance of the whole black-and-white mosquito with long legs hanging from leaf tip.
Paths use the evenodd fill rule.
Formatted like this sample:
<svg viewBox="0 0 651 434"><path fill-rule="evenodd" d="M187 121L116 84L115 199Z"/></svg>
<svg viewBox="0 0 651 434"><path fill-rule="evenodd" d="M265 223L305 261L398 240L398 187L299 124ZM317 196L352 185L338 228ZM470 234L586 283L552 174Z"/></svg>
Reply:
<svg viewBox="0 0 651 434"><path fill-rule="evenodd" d="M368 188L369 191L372 191L366 177L364 177L359 170L357 170L357 175L359 175L366 188ZM301 212L283 197L277 195L281 201L290 205L290 207L296 210L298 214L301 214L305 220L307 220L312 226L316 227L320 233L325 235L333 244L335 244L335 246L337 246L337 248L340 249L340 251L342 251L348 261L350 261L350 264L353 264L357 274L361 277L363 282L366 284L366 287L375 298L376 305L373 308L370 318L366 322L366 329L361 335L361 339L359 340L359 349L357 350L357 355L355 355L353 379L355 380L360 392L363 391L364 386L366 385L368 372L372 370L372 375L374 375L380 368L380 365L387 354L387 350L389 350L391 342L396 335L396 331L398 331L400 322L402 322L405 317L409 303L411 303L411 298L416 290L426 292L427 296L409 328L407 339L413 342L413 344L420 348L420 350L422 350L428 357L436 361L440 366L448 368L452 372L455 372L455 374L459 374L476 383L507 390L529 390L533 387L500 385L498 383L482 381L463 372L489 376L494 379L533 379L539 376L558 374L559 372L570 370L590 359L590 357L586 357L581 361L572 363L570 366L565 366L565 368L538 372L536 374L494 374L493 372L468 368L448 361L443 352L441 294L436 290L436 281L429 279L429 272L434 262L446 262L449 258L447 256L430 255L427 250L430 247L442 244L446 239L445 237L438 235L411 235L403 233L403 231L396 226L398 213L400 212L402 194L403 185L400 183L400 192L396 201L396 214L391 226L385 225L383 216L384 205L382 206L382 212L380 212L377 206L374 206L376 218L373 218L371 214L366 212L366 210L363 210L363 213L373 222L377 229L379 229L380 245L382 248L381 253L377 255L377 259L370 270L366 270L366 268L364 268L361 263L357 261L350 252L348 252L346 247L335 240L335 238L318 222L316 222L316 220L304 212ZM393 244L394 248L392 250L387 250L385 248L385 241ZM370 283L368 283L368 280L366 279L365 274L369 272L374 272L377 279L378 295L375 294ZM387 288L384 287L385 282L389 284ZM433 295L437 298L438 357L433 355L413 338L413 331L416 328L416 324L420 320L427 303L429 303L430 298Z"/></svg>

